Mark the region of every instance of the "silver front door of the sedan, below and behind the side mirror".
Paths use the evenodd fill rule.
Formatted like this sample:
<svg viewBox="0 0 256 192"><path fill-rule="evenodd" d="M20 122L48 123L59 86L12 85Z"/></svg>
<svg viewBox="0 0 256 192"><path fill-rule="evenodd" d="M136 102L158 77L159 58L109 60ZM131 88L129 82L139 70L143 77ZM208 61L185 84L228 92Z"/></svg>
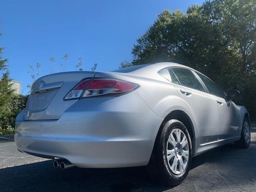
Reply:
<svg viewBox="0 0 256 192"><path fill-rule="evenodd" d="M225 139L240 134L240 115L236 104L232 100L227 100L225 93L208 77L196 72L204 82L209 94L211 94L218 106L220 116L220 136L218 139Z"/></svg>

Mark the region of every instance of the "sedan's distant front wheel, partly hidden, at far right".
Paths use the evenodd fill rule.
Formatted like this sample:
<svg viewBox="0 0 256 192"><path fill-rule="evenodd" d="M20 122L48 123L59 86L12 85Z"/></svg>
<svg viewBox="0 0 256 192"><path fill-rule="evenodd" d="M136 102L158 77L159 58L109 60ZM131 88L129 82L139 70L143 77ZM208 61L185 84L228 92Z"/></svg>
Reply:
<svg viewBox="0 0 256 192"><path fill-rule="evenodd" d="M235 142L235 145L240 148L248 148L251 142L251 128L248 118L244 118L244 123L241 132L241 138Z"/></svg>

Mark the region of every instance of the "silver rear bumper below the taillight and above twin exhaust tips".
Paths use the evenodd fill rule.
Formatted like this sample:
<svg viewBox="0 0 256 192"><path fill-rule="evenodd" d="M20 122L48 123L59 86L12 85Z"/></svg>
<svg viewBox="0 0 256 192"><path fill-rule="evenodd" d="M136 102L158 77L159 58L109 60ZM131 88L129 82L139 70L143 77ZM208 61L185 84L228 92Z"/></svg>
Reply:
<svg viewBox="0 0 256 192"><path fill-rule="evenodd" d="M148 164L163 120L136 92L117 98L81 99L58 120L24 121L23 114L16 118L18 150L65 158L88 168Z"/></svg>

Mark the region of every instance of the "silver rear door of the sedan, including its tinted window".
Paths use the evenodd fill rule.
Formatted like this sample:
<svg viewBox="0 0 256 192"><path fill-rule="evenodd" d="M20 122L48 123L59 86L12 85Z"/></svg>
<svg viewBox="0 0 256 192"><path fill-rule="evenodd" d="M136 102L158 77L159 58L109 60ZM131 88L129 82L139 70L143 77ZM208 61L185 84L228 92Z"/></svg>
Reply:
<svg viewBox="0 0 256 192"><path fill-rule="evenodd" d="M206 93L190 69L171 68L168 71L171 81L194 118L200 144L216 141L220 127L216 100Z"/></svg>

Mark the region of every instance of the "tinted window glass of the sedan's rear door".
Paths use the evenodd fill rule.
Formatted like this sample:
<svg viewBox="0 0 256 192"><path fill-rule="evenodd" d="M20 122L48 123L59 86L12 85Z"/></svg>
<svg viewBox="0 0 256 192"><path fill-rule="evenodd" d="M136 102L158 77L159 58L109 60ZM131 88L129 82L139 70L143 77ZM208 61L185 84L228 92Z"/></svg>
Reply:
<svg viewBox="0 0 256 192"><path fill-rule="evenodd" d="M204 92L204 88L202 87L196 76L194 76L191 70L172 68L172 71L177 76L181 85Z"/></svg>

